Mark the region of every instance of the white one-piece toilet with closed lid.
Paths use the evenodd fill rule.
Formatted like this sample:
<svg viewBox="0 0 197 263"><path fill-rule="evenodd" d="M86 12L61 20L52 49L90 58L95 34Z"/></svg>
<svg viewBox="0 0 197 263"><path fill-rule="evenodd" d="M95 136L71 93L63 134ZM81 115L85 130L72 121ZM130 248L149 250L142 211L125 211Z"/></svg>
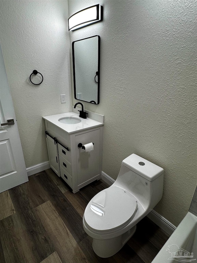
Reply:
<svg viewBox="0 0 197 263"><path fill-rule="evenodd" d="M111 257L135 233L136 224L159 202L164 170L136 154L122 162L118 178L95 195L83 215L83 228L93 238L99 257Z"/></svg>

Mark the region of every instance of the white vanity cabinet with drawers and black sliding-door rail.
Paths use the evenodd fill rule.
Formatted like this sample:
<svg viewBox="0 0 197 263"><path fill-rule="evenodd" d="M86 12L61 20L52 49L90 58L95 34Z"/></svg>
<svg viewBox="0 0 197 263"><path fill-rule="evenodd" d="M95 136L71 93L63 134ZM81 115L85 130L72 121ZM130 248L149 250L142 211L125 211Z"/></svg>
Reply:
<svg viewBox="0 0 197 263"><path fill-rule="evenodd" d="M101 178L103 124L71 133L46 119L45 126L50 167L72 188L73 193ZM89 142L94 143L93 151L85 152L78 147L79 143Z"/></svg>

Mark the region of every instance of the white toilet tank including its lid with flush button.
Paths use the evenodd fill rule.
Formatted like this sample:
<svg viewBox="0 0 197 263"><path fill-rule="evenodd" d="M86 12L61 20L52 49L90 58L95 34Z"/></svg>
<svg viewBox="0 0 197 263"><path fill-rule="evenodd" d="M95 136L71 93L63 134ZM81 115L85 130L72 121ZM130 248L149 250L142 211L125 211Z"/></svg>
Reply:
<svg viewBox="0 0 197 263"><path fill-rule="evenodd" d="M163 195L163 168L131 154L122 161L113 186L130 192L144 209L153 209Z"/></svg>

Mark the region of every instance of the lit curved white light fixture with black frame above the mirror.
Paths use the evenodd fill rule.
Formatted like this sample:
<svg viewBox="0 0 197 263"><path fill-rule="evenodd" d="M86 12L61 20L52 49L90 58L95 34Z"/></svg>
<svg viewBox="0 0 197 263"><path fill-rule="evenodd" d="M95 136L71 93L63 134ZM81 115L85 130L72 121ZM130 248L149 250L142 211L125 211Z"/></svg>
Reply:
<svg viewBox="0 0 197 263"><path fill-rule="evenodd" d="M68 18L68 31L86 27L103 20L103 6L95 5L85 8Z"/></svg>

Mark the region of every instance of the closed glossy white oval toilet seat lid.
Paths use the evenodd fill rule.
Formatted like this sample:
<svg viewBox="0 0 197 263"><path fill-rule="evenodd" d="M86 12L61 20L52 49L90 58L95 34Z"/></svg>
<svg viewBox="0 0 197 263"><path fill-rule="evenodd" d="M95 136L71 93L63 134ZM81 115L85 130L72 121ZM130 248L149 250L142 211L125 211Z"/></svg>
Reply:
<svg viewBox="0 0 197 263"><path fill-rule="evenodd" d="M119 187L109 187L90 200L84 220L93 231L112 231L130 223L137 208L137 200L130 193Z"/></svg>

